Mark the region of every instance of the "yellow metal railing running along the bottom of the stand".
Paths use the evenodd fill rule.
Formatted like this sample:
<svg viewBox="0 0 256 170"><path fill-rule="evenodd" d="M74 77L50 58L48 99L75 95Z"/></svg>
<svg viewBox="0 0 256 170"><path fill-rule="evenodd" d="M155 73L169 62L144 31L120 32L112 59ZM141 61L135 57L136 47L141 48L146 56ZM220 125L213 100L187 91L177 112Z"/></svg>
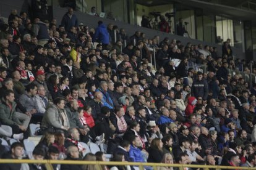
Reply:
<svg viewBox="0 0 256 170"><path fill-rule="evenodd" d="M1 160L2 163L28 163L28 164L45 164L48 170L52 170L53 166L51 164L87 164L95 165L96 170L101 170L101 165L106 166L138 166L139 169L144 169L144 166L151 166L153 169L158 169L159 167L177 167L179 169L184 168L203 168L203 169L255 169L248 167L234 167L234 166L208 166L208 165L197 165L197 164L164 164L164 163L135 163L135 162L111 162L111 161L61 161L61 160Z"/></svg>

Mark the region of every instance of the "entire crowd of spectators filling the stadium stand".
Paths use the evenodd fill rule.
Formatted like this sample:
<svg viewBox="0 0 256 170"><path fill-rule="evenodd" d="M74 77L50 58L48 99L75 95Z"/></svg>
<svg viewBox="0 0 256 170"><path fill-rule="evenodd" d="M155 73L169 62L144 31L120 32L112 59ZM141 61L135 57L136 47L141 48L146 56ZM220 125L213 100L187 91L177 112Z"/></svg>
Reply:
<svg viewBox="0 0 256 170"><path fill-rule="evenodd" d="M140 31L129 37L101 21L89 28L72 8L61 25L13 10L0 26L0 135L20 140L11 148L0 145L1 158L24 158L28 125L39 123L36 135L43 137L30 159L106 161L102 152L83 158L80 142L94 142L108 145L111 161L256 166L256 85L250 89L241 75L229 74L228 68L248 70L234 61L229 39L220 56L216 47L160 41ZM155 71L149 63L154 51ZM208 70L195 71L190 63ZM95 166L61 166L73 168Z"/></svg>

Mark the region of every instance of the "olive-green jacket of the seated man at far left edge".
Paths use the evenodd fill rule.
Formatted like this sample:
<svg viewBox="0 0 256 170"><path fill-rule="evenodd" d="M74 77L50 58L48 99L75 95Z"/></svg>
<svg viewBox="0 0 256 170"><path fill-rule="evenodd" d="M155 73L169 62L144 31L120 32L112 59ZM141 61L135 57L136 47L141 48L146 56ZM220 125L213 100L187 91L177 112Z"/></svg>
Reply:
<svg viewBox="0 0 256 170"><path fill-rule="evenodd" d="M9 126L18 125L17 122L19 122L19 120L14 118L16 105L17 104L15 102L12 102L11 110L11 108L6 103L6 100L2 99L2 103L0 104L0 121L2 124Z"/></svg>

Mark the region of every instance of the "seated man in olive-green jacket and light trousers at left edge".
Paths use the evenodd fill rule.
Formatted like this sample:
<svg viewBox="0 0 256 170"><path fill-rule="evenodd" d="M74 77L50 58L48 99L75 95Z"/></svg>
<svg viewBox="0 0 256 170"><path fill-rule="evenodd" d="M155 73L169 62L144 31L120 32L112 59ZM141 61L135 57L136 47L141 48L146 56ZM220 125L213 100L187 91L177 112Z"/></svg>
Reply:
<svg viewBox="0 0 256 170"><path fill-rule="evenodd" d="M27 131L30 117L23 113L15 111L16 103L14 102L14 92L7 90L0 104L0 121L12 127L14 134L20 131Z"/></svg>

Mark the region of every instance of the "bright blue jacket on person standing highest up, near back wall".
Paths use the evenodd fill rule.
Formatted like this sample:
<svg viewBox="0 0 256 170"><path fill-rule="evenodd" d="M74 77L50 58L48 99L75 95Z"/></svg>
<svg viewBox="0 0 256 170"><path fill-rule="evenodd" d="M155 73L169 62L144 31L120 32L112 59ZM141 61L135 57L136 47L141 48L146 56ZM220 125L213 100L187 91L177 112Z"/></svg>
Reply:
<svg viewBox="0 0 256 170"><path fill-rule="evenodd" d="M93 42L100 41L102 44L109 44L109 34L108 30L106 29L106 26L102 23L101 25L98 25L98 28L96 28L94 37L93 37Z"/></svg>

